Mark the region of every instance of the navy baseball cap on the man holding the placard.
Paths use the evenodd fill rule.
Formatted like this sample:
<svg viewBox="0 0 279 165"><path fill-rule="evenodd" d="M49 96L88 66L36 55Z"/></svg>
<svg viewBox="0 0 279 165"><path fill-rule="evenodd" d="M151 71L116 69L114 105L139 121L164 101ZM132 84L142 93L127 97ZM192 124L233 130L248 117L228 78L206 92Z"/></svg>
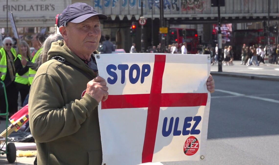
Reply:
<svg viewBox="0 0 279 165"><path fill-rule="evenodd" d="M99 14L86 3L73 3L63 10L60 18L60 26L66 26L68 22L81 23L89 17L98 16L99 20L109 19L105 14Z"/></svg>

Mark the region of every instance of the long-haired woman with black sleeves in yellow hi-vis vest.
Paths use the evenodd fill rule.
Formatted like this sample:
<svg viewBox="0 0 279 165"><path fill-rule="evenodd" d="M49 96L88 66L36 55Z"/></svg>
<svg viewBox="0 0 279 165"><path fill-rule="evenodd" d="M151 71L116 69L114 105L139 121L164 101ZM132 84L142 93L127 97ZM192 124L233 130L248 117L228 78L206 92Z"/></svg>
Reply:
<svg viewBox="0 0 279 165"><path fill-rule="evenodd" d="M20 53L15 59L15 69L16 69L16 78L15 84L17 90L20 92L21 105L23 106L23 101L25 100L27 94L29 93L30 86L28 85L28 76L29 76L29 67L21 64L21 60L25 59L31 61L31 52L30 47L27 42L20 41Z"/></svg>

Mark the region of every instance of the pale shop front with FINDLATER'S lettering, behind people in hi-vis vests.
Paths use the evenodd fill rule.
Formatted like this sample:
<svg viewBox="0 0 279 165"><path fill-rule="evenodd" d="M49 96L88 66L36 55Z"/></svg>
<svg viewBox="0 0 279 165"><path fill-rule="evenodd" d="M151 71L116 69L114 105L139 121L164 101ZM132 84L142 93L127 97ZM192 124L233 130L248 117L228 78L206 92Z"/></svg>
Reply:
<svg viewBox="0 0 279 165"><path fill-rule="evenodd" d="M31 46L34 33L54 33L55 16L71 4L71 0L0 0L0 32L13 37L7 11L13 13L18 36Z"/></svg>

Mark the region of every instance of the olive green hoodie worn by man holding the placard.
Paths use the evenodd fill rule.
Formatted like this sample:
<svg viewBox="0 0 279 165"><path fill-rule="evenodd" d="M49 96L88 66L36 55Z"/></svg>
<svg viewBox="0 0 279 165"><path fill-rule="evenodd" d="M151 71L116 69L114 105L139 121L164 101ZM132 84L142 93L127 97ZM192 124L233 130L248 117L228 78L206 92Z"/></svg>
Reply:
<svg viewBox="0 0 279 165"><path fill-rule="evenodd" d="M57 55L79 69L51 59ZM48 61L39 67L29 96L38 164L102 164L98 102L87 93L82 96L95 77L63 40L52 43Z"/></svg>

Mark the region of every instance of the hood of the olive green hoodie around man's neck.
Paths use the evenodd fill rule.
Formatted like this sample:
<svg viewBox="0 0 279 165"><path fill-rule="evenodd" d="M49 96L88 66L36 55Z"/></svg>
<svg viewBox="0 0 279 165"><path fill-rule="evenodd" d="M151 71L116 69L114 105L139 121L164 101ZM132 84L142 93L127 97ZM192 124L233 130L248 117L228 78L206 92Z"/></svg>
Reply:
<svg viewBox="0 0 279 165"><path fill-rule="evenodd" d="M96 50L93 54L99 54ZM67 62L75 65L76 67L86 71L93 72L77 55L75 55L64 43L63 40L52 42L49 52L47 53L47 60L50 60L54 56L61 56L66 59ZM93 72L94 73L94 72Z"/></svg>

